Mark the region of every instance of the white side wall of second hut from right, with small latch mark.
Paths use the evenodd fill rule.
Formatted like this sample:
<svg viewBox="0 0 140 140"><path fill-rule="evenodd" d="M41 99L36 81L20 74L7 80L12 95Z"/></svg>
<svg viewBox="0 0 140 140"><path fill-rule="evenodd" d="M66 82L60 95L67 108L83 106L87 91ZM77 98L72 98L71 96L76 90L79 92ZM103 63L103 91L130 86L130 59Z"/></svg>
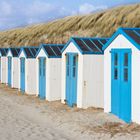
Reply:
<svg viewBox="0 0 140 140"><path fill-rule="evenodd" d="M103 55L83 56L83 107L104 107Z"/></svg>

